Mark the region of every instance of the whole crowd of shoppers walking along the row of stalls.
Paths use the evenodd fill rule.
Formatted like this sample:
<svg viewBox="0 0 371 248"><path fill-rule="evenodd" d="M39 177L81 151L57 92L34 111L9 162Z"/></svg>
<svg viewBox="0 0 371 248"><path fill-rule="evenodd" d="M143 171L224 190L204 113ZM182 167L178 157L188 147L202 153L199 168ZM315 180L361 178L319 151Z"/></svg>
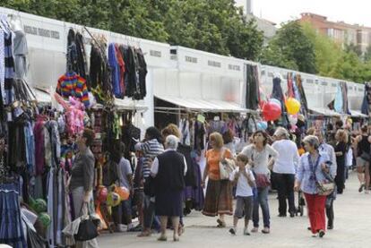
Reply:
<svg viewBox="0 0 371 248"><path fill-rule="evenodd" d="M227 227L226 215L233 215L231 235L237 235L239 218L245 219L244 235L259 231L259 209L263 213L263 234L271 232L271 216L268 194L272 183L278 192L278 216L294 218L298 209L295 205L295 192L304 195L308 230L312 235L323 237L326 230L334 228L334 200L337 194L345 190L349 152L357 161L359 192L369 192L370 184L370 144L371 136L367 126L363 126L357 136L352 137L343 128L342 123L329 135L327 130L317 127L309 128L306 135L297 137L301 142L292 140L292 135L283 127L272 132L272 137L263 131L251 135L250 142L243 150L236 150L233 133L211 133L208 147L204 154L206 164L201 186L205 191L202 213L205 216L217 217L216 227ZM353 133L354 134L354 133ZM79 153L73 162L73 171L69 189L73 195L75 218L92 210L92 170L94 157L90 146L94 133L85 130L77 138ZM140 152L142 167L132 169L125 158L125 144L118 142L111 152L113 161L109 167L110 183L123 186L130 192L126 201L113 208L113 218L117 231L123 231L121 224L130 231L132 226L133 206L137 206L141 224L141 234L150 236L152 229L158 227L159 241L167 241L166 229L173 229L173 240L185 231L184 190L194 184L189 175L193 170L193 160L180 143L181 132L177 125L169 124L160 132L155 127L146 130L143 141L137 141L135 149ZM227 143L225 143L225 142ZM298 145L299 144L299 145ZM303 150L304 149L304 150ZM226 160L234 164L229 178L220 177L220 163ZM141 163L139 163L141 164ZM134 182L134 175L136 181ZM190 183L193 182L193 183ZM323 192L322 184L332 184L330 192ZM133 202L135 184L143 189ZM235 187L235 191L233 191ZM138 191L137 191L138 192ZM236 206L233 211L233 197ZM326 221L327 216L327 221ZM253 228L248 229L249 221ZM157 223L158 222L158 223ZM78 245L97 247L95 239Z"/></svg>

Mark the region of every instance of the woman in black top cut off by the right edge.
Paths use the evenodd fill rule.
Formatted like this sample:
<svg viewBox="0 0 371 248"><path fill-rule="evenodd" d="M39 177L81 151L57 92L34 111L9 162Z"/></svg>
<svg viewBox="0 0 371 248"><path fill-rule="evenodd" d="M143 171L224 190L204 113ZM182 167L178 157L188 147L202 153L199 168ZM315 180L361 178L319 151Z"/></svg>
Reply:
<svg viewBox="0 0 371 248"><path fill-rule="evenodd" d="M358 192L362 192L365 188L365 193L368 193L370 184L370 141L367 125L362 126L361 134L357 136L355 143L355 150L357 151L357 172L360 183Z"/></svg>

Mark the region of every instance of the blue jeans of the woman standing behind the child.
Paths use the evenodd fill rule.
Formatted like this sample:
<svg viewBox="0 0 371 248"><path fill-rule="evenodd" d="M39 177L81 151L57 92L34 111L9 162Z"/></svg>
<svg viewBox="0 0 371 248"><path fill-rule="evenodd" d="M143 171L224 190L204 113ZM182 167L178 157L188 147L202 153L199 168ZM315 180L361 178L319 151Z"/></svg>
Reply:
<svg viewBox="0 0 371 248"><path fill-rule="evenodd" d="M259 205L263 212L263 223L264 227L270 227L270 215L269 215L269 205L268 205L268 187L258 188L258 195L254 200L254 210L253 210L253 222L254 227L259 227Z"/></svg>

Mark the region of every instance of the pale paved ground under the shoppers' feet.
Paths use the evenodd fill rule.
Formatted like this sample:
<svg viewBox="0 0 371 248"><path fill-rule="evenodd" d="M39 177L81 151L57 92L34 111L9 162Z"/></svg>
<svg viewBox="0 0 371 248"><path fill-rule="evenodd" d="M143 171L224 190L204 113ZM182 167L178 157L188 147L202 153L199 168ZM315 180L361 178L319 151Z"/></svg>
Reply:
<svg viewBox="0 0 371 248"><path fill-rule="evenodd" d="M237 235L229 234L232 217L227 217L228 227L217 228L216 219L193 211L184 218L186 232L180 242L172 241L168 230L168 242L159 242L159 235L137 237L137 233L115 233L99 235L99 247L370 247L371 246L371 194L358 192L356 173L349 174L346 189L334 201L334 229L328 230L324 238L312 237L306 230L309 226L306 210L303 217L279 218L276 193L269 195L271 210L271 234L259 233L242 235L243 219L238 222ZM297 196L297 193L296 193ZM296 201L298 202L298 201ZM262 221L263 219L261 219ZM250 223L249 228L252 227Z"/></svg>

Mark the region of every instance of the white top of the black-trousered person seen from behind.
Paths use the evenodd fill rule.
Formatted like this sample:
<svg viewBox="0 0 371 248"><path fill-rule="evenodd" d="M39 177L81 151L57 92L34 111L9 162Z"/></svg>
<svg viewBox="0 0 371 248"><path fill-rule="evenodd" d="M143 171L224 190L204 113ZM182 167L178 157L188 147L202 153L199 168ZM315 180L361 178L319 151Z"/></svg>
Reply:
<svg viewBox="0 0 371 248"><path fill-rule="evenodd" d="M299 159L297 144L289 140L280 140L274 141L272 148L278 152L274 159L273 172L295 174Z"/></svg>

